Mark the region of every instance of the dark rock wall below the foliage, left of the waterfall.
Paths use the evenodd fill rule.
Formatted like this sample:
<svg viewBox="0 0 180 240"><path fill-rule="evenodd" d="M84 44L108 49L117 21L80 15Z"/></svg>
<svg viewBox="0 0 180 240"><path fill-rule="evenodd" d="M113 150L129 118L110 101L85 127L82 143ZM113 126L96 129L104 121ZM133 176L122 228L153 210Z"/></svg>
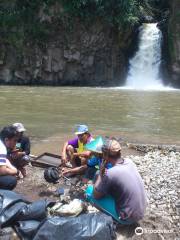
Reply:
<svg viewBox="0 0 180 240"><path fill-rule="evenodd" d="M101 22L88 27L76 22L69 32L59 24L43 47L26 43L17 50L0 45L0 83L119 85L127 71L131 34Z"/></svg>

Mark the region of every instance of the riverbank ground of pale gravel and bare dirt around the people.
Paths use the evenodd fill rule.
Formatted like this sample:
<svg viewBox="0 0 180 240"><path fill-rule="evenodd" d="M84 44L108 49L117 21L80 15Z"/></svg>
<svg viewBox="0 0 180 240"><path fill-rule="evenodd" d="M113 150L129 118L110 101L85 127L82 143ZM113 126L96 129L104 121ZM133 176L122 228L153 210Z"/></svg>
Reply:
<svg viewBox="0 0 180 240"><path fill-rule="evenodd" d="M180 199L180 152L171 148L157 150L151 147L144 155L140 151L124 147L123 155L137 165L145 184L148 206L144 219L138 225L140 235L135 234L137 226L118 227L117 239L178 239L180 215L175 205ZM28 168L28 177L21 180L16 190L31 200L40 197L57 199L54 192L57 187L62 186L62 182L58 185L48 185L44 181L42 169Z"/></svg>

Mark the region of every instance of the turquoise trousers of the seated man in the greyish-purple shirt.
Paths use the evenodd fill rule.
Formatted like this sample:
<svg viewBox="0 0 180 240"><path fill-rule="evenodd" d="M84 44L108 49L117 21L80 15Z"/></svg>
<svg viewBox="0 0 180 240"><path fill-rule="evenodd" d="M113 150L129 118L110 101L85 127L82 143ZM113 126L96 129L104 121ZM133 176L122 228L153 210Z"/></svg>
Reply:
<svg viewBox="0 0 180 240"><path fill-rule="evenodd" d="M92 185L89 185L85 190L86 199L90 203L92 203L98 209L102 210L103 212L105 212L108 215L110 215L111 217L113 217L120 224L129 225L129 224L134 223L134 221L132 221L130 219L122 220L119 217L119 215L116 211L116 205L115 205L115 201L114 201L113 197L111 197L110 195L107 195L107 196L105 196L101 199L95 199L94 196L93 196L93 191L94 191L94 188L93 188Z"/></svg>

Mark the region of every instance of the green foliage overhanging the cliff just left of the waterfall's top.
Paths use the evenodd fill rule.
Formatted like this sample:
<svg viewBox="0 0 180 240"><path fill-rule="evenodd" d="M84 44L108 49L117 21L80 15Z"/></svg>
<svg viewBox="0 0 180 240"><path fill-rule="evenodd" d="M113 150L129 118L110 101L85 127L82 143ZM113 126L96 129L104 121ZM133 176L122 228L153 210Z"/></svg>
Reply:
<svg viewBox="0 0 180 240"><path fill-rule="evenodd" d="M82 20L101 17L115 27L133 25L139 21L138 0L63 0L63 6L70 15Z"/></svg>

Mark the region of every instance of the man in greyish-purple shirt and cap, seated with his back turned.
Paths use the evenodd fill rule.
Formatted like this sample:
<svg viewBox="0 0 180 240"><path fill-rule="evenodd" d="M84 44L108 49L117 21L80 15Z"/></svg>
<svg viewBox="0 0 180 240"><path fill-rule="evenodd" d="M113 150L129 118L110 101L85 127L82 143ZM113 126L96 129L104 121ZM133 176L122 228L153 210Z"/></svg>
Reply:
<svg viewBox="0 0 180 240"><path fill-rule="evenodd" d="M121 224L137 222L144 216L146 195L135 164L121 157L121 146L116 140L106 140L102 153L100 174L94 186L86 189L87 199ZM107 163L112 168L105 170Z"/></svg>

